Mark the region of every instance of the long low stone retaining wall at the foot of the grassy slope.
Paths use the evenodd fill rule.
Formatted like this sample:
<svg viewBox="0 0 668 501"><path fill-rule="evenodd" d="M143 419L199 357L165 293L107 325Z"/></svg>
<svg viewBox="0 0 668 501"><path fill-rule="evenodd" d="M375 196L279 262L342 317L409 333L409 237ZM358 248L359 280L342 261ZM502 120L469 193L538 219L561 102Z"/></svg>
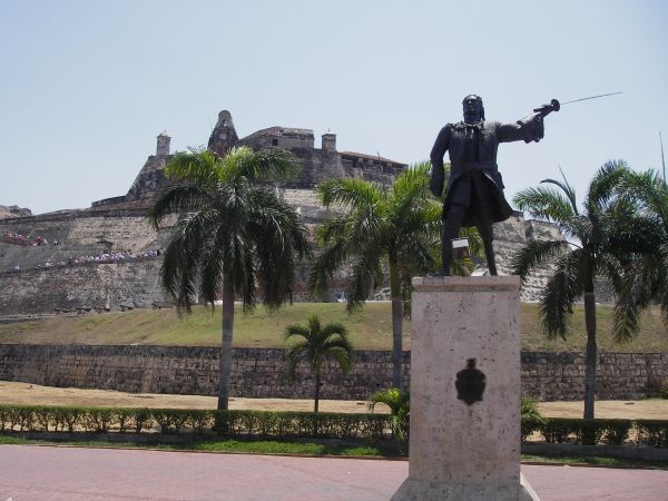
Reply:
<svg viewBox="0 0 668 501"><path fill-rule="evenodd" d="M348 375L325 364L322 397L364 400L390 386L390 352L358 351ZM606 353L599 356L597 397L654 395L668 379L668 353ZM0 380L48 386L125 392L216 395L218 348L195 346L0 345ZM410 383L410 353L404 353ZM522 353L522 392L543 401L581 400L584 356ZM287 381L283 350L235 348L232 396L310 399L313 375L305 365Z"/></svg>

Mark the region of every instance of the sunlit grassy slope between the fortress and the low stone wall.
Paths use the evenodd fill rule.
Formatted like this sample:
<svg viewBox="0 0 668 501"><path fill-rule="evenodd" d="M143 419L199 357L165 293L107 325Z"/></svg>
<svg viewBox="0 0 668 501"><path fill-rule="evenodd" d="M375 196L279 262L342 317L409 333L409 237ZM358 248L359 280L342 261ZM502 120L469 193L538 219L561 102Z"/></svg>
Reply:
<svg viewBox="0 0 668 501"><path fill-rule="evenodd" d="M611 336L613 312L599 305L598 342L600 352L666 352L668 328L660 311L652 307L641 320L638 337L628 344L616 344ZM234 345L239 347L283 347L283 332L293 323L305 323L317 314L323 322L341 322L351 333L357 350L390 350L392 323L390 303L367 303L362 311L348 315L338 303L295 303L277 312L258 307L244 315L237 307ZM584 314L576 306L571 334L566 341L550 341L543 334L538 305L521 305L522 350L584 351ZM411 323L404 320L403 346L410 348ZM175 310L135 310L126 313L53 316L39 321L0 325L0 344L149 344L217 346L220 343L220 308L215 312L197 307L193 315L179 318Z"/></svg>

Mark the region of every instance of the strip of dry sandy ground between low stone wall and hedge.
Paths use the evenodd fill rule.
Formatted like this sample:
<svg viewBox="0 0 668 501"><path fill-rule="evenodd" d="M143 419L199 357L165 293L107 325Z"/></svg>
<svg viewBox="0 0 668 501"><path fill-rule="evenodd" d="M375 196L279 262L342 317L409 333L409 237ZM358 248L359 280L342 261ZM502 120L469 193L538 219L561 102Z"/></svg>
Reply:
<svg viewBox="0 0 668 501"><path fill-rule="evenodd" d="M119 407L215 409L216 399L198 395L164 395L154 393L124 393L110 390L80 390L50 387L38 384L0 381L0 403L82 405ZM229 409L264 411L312 411L312 400L291 399L229 399ZM365 412L364 401L321 400L323 412ZM541 412L552 418L581 418L582 402L543 402ZM376 412L387 412L379 405ZM596 416L606 419L668 420L668 400L599 401Z"/></svg>

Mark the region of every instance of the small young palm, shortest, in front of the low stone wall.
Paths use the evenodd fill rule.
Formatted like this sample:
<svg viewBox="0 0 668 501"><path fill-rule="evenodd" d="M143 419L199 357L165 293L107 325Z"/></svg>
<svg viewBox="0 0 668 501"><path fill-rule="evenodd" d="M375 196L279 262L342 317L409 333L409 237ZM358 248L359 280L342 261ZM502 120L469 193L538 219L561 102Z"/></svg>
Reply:
<svg viewBox="0 0 668 501"><path fill-rule="evenodd" d="M285 353L287 373L291 379L294 379L299 362L305 360L308 363L315 374L313 411L317 412L323 362L327 356L333 356L341 365L343 373L347 374L353 365L353 345L343 325L331 323L322 326L317 315L308 318L307 325L288 325L285 330L285 341L289 341L293 336L302 338L291 345Z"/></svg>

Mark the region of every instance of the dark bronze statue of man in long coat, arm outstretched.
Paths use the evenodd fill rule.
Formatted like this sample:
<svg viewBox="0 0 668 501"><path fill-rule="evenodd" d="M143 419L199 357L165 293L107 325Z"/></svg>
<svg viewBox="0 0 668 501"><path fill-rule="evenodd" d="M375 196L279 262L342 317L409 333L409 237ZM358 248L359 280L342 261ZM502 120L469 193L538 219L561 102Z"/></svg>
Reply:
<svg viewBox="0 0 668 501"><path fill-rule="evenodd" d="M444 185L443 156L450 153L450 180L443 200L441 256L443 275L452 266L452 239L462 226L475 226L484 245L491 275L497 275L493 223L508 219L512 208L503 196L503 180L497 166L499 143L539 141L543 137L542 112L533 112L514 124L485 121L482 99L466 96L464 120L448 124L439 132L431 151L430 189L441 196Z"/></svg>

